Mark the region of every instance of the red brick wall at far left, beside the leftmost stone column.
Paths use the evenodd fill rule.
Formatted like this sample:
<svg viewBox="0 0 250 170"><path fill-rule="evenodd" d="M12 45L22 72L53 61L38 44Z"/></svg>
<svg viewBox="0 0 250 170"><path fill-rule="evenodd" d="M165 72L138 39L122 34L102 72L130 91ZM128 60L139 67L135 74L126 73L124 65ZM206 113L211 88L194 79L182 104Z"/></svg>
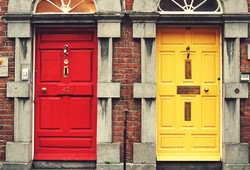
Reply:
<svg viewBox="0 0 250 170"><path fill-rule="evenodd" d="M0 57L9 58L9 77L0 77L0 161L5 160L6 142L13 141L13 99L6 97L6 83L14 80L14 41L6 37L7 27L3 14L8 0L0 0Z"/></svg>

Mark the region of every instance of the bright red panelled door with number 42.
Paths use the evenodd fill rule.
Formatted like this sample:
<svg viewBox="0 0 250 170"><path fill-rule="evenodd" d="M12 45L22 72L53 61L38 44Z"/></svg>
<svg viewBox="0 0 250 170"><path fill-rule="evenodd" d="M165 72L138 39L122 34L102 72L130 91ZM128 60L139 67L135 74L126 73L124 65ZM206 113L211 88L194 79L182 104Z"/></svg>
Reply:
<svg viewBox="0 0 250 170"><path fill-rule="evenodd" d="M36 160L96 160L95 29L38 28Z"/></svg>

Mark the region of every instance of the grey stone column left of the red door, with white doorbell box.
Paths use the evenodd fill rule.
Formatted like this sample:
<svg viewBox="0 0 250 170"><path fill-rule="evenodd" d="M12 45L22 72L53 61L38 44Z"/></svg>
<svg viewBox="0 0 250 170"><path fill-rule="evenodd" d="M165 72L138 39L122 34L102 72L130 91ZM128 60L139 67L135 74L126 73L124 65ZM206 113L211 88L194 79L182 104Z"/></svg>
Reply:
<svg viewBox="0 0 250 170"><path fill-rule="evenodd" d="M15 38L15 82L7 84L14 98L14 142L6 144L3 169L31 169L32 164L32 39L30 22L8 23L8 37ZM22 70L28 69L28 80Z"/></svg>

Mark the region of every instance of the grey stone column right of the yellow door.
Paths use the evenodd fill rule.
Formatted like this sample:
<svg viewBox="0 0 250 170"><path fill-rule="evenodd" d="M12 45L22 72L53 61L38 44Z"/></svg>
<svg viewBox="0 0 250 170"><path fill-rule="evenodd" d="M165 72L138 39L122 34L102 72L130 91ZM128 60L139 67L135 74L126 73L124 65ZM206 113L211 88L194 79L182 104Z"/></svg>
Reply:
<svg viewBox="0 0 250 170"><path fill-rule="evenodd" d="M246 38L246 23L225 23L223 57L223 139L224 169L248 164L248 145L240 143L240 99L248 98L248 84L240 83L240 38Z"/></svg>

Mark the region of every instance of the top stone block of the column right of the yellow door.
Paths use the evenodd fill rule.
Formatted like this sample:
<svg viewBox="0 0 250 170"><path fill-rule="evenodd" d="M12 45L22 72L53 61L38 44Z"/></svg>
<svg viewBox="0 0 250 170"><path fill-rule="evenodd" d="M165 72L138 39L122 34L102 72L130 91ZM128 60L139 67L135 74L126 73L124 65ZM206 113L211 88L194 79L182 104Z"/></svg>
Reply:
<svg viewBox="0 0 250 170"><path fill-rule="evenodd" d="M225 38L247 38L248 23L225 23Z"/></svg>

